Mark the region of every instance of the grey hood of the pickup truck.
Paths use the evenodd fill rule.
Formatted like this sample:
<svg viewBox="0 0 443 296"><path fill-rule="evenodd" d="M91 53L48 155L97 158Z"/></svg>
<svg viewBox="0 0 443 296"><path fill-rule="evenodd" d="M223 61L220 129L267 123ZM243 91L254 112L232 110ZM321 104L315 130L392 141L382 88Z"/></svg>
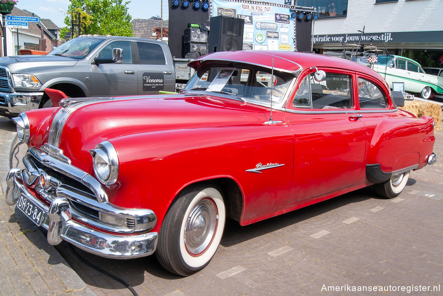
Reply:
<svg viewBox="0 0 443 296"><path fill-rule="evenodd" d="M0 58L0 65L11 73L25 73L29 70L52 67L72 67L78 60L56 55L17 55Z"/></svg>

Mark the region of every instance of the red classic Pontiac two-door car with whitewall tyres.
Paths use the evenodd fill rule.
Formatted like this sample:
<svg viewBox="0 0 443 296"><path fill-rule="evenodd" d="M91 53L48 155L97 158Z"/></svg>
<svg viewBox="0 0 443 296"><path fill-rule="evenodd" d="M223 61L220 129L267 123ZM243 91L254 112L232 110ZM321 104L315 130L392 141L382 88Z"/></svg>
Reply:
<svg viewBox="0 0 443 296"><path fill-rule="evenodd" d="M363 65L317 54L208 54L176 95L64 99L14 121L28 150L7 203L107 258L156 253L189 275L241 225L373 185L398 196L435 162L434 120L398 109Z"/></svg>

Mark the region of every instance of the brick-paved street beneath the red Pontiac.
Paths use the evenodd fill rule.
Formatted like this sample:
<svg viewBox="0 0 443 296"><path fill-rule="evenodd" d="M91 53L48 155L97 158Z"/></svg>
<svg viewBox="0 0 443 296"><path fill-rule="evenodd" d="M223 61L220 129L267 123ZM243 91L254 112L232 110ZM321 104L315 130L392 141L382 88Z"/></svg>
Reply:
<svg viewBox="0 0 443 296"><path fill-rule="evenodd" d="M14 125L0 124L1 185L5 190L5 146ZM127 281L139 295L383 293L326 290L346 284L436 286L439 291L410 294L443 295L442 130L436 131L436 138L437 163L411 172L399 197L386 200L364 188L246 227L228 221L213 260L190 277L166 272L155 256L110 260L76 250ZM71 283L76 275L43 234L4 200L0 200L0 210L0 244L5 246L0 248L1 295L83 295L89 289L96 295L132 295L122 284L80 262L62 243L56 249L84 281Z"/></svg>

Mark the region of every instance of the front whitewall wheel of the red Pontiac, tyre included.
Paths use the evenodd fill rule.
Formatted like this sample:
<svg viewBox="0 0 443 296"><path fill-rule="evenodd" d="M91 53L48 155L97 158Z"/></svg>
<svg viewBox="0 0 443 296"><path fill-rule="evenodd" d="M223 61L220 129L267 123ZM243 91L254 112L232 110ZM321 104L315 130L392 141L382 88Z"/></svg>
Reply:
<svg viewBox="0 0 443 296"><path fill-rule="evenodd" d="M225 217L223 197L214 186L185 189L163 219L155 252L160 264L182 276L204 268L218 249Z"/></svg>

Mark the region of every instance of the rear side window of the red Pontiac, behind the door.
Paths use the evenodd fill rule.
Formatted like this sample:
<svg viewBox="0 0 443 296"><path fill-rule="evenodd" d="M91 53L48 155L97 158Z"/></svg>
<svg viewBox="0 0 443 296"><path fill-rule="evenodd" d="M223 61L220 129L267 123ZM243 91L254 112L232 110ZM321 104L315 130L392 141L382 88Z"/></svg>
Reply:
<svg viewBox="0 0 443 296"><path fill-rule="evenodd" d="M381 89L363 78L358 78L358 101L361 109L381 109L388 106Z"/></svg>

